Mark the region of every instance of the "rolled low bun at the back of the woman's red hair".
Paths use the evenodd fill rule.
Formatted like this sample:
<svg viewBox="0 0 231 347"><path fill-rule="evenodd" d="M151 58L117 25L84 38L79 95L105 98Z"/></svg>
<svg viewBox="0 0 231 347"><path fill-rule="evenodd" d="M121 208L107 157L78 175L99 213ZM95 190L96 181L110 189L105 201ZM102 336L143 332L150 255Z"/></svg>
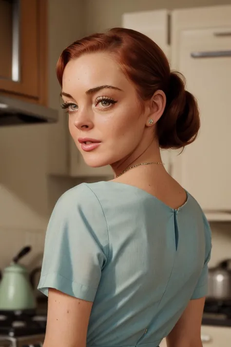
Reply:
<svg viewBox="0 0 231 347"><path fill-rule="evenodd" d="M192 143L200 128L199 111L193 95L185 90L185 78L171 72L165 111L157 122L161 148L181 148Z"/></svg>

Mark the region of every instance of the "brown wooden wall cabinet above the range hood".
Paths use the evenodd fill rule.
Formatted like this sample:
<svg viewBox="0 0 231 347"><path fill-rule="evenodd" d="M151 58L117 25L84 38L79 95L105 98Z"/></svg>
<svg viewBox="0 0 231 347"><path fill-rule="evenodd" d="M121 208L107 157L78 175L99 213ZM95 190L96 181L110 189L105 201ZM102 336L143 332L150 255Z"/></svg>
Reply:
<svg viewBox="0 0 231 347"><path fill-rule="evenodd" d="M46 0L0 0L0 93L46 104Z"/></svg>

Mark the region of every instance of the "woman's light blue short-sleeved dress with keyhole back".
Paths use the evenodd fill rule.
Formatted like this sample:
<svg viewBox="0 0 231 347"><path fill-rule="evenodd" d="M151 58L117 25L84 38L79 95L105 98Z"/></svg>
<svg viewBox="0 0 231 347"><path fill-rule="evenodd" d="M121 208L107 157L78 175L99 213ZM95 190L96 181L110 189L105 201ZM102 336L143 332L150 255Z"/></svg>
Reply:
<svg viewBox="0 0 231 347"><path fill-rule="evenodd" d="M211 230L187 193L174 210L128 184L80 184L52 213L39 289L93 301L87 346L157 347L206 295Z"/></svg>

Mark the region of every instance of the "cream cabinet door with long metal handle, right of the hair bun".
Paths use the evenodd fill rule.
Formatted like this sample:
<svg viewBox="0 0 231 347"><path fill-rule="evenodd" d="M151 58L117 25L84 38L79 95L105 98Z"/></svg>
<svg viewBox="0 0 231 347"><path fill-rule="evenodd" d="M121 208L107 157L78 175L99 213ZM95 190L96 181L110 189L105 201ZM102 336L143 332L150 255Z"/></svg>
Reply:
<svg viewBox="0 0 231 347"><path fill-rule="evenodd" d="M197 98L197 140L175 158L173 176L205 211L231 210L231 27L182 29L177 69Z"/></svg>

